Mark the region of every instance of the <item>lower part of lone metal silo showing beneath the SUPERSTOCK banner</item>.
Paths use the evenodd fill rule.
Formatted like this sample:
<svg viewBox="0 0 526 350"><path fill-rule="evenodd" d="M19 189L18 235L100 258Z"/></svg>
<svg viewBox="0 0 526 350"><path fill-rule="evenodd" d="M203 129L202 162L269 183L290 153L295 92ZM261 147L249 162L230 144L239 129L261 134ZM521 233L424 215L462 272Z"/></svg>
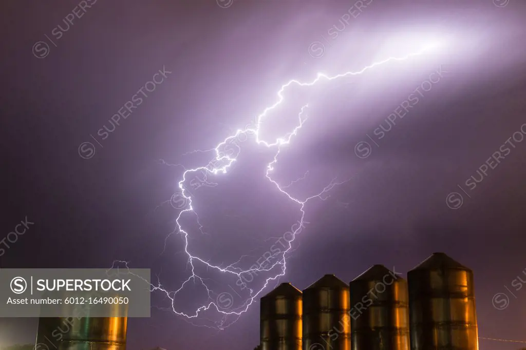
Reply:
<svg viewBox="0 0 526 350"><path fill-rule="evenodd" d="M125 350L127 317L41 317L35 350Z"/></svg>

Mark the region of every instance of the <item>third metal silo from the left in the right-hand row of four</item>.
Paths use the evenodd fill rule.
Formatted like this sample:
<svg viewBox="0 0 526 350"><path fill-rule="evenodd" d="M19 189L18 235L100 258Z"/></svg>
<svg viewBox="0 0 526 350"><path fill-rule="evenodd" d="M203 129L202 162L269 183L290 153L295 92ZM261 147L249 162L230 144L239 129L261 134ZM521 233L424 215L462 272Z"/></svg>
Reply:
<svg viewBox="0 0 526 350"><path fill-rule="evenodd" d="M409 350L407 282L373 265L349 287L352 350Z"/></svg>

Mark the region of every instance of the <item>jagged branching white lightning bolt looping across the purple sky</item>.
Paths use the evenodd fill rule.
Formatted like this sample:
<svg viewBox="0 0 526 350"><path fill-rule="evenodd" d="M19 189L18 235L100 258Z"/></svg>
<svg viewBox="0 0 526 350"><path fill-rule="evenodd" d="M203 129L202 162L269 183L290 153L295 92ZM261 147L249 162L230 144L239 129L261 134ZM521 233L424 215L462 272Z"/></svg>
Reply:
<svg viewBox="0 0 526 350"><path fill-rule="evenodd" d="M383 65L383 64L387 64L387 63L389 63L391 61L403 61L403 60L407 60L407 59L409 59L411 57L414 57L414 56L422 55L427 50L429 50L429 49L431 49L433 47L434 47L434 45L432 45L432 46L428 45L428 46L422 47L417 52L410 53L410 54L408 54L406 56L403 56L403 57L389 57L387 59L384 59L384 60L381 60L381 61L377 61L377 62L375 62L375 63L373 63L373 64L371 64L369 66L366 66L366 67L362 68L361 70L358 70L358 71L347 71L346 73L342 73L342 74L338 74L338 75L334 75L334 76L328 76L328 75L325 75L325 74L322 74L322 73L318 73L317 77L314 80L310 81L309 83L301 83L298 80L290 80L285 85L282 85L281 88L279 89L279 91L277 92L277 95L278 95L277 102L275 102L275 104L265 108L265 110L262 111L261 114L259 114L257 116L255 127L247 127L245 129L238 129L235 132L234 135L231 135L231 136L227 137L222 142L218 143L218 145L215 148L213 148L213 149L209 149L209 150L205 150L205 151L196 150L196 151L189 152L189 153L211 152L211 151L215 152L214 159L211 160L206 166L201 166L201 167L194 168L194 169L186 169L185 167L183 167L185 169L185 171L183 173L182 178L178 182L178 188L180 190L180 195L186 201L186 207L187 208L185 208L185 209L183 209L183 210L181 210L179 212L179 215L177 216L177 219L175 221L176 222L176 228L174 229L173 232L171 232L168 235L168 237L171 234L174 234L174 233L180 233L184 237L184 242L185 242L184 250L185 250L185 253L188 255L188 265L190 266L191 275L188 277L188 279L186 281L184 281L180 285L179 289L177 289L175 291L168 291L168 290L164 289L159 281L157 282L157 285L154 285L154 284L150 283L150 285L151 285L150 291L151 292L159 291L161 293L166 294L166 296L171 301L171 311L173 313L177 314L177 315L181 315L181 316L184 316L184 317L187 317L187 318L195 318L200 313L202 313L202 312L204 312L206 310L214 309L219 314L222 314L221 317L223 317L223 320L218 325L219 329L224 329L226 327L225 324L224 324L224 322L225 322L225 318L224 317L226 317L227 315L236 315L237 316L236 320L237 320L239 318L239 316L242 313L246 312L248 310L249 306L252 303L254 303L254 301L256 300L256 297L267 287L269 282L277 280L277 279L279 279L279 277L285 275L285 273L286 273L286 265L287 265L287 261L286 261L285 258L286 258L287 253L289 253L289 251L292 248L291 247L291 243L296 238L296 233L301 229L302 225L304 224L305 205L310 200L315 199L315 198L318 198L318 199L321 199L321 200L327 199L327 198L322 198L322 195L324 195L324 194L327 195L327 193L333 187L338 186L338 185L350 180L349 179L349 180L346 180L346 181L343 181L343 182L335 182L336 178L332 179L332 181L325 188L323 188L321 191L319 191L318 193L313 194L310 197L307 197L305 199L298 199L298 198L292 196L290 193L288 193L285 190L290 185L281 187L279 185L279 183L277 183L275 180L273 180L271 178L271 173L272 173L272 170L274 170L274 167L275 167L276 163L278 162L278 156L280 155L281 147L284 146L284 145L289 145L290 144L292 137L297 135L298 131L302 128L302 126L304 125L305 121L307 120L307 117L304 117L304 114L305 114L305 110L308 108L308 105L304 105L304 106L301 107L301 111L298 114L298 123L297 123L296 127L293 130L291 130L290 132L288 132L285 136L278 137L278 138L276 138L275 140L272 140L272 141L263 140L260 137L260 129L261 129L261 122L262 122L262 120L264 120L266 117L268 117L269 112L271 112L276 107L278 107L280 104L282 104L282 102L284 102L284 100L285 100L284 92L285 92L285 90L288 87L290 87L292 85L313 86L313 85L317 84L319 81L322 81L322 80L336 80L336 79L340 79L340 78L346 78L346 77L349 77L349 76L360 75L362 73L365 73L367 70L369 70L369 69L371 69L373 67L377 67L377 66L380 66L380 65ZM262 268L261 264L258 267L252 267L251 269L248 269L248 270L242 270L240 267L235 267L235 265L238 264L242 258L240 260L238 260L237 262L232 263L232 264L230 264L230 265L228 265L226 267L221 267L221 266L216 266L216 265L210 264L208 261L205 261L204 259L199 258L199 256L193 255L190 252L190 249L189 249L189 246L188 246L188 232L185 231L183 229L183 227L181 227L181 224L179 222L179 220L181 219L181 216L183 214L185 214L185 213L191 213L193 215L196 215L196 217L197 217L197 213L194 211L194 208L193 208L193 198L191 197L191 194L189 193L189 191L184 186L184 183L185 183L185 181L187 181L187 178L188 178L189 174L195 173L195 172L199 172L199 171L203 172L205 174L210 173L210 174L214 174L214 175L218 174L218 173L227 173L227 171L230 168L230 166L232 165L232 163L234 163L236 161L237 154L236 155L226 155L225 152L223 151L223 149L225 148L226 145L232 143L232 141L235 138L237 138L239 135L242 135L242 134L244 134L247 137L248 137L248 135L254 135L257 145L264 146L264 147L267 147L269 149L274 149L275 150L274 158L272 158L272 161L267 164L267 170L266 170L266 173L265 173L265 177L268 179L268 181L270 181L272 184L274 184L274 186L276 187L277 191L279 191L282 195L284 195L288 200L296 203L298 205L298 207L299 207L299 212L301 213L300 214L300 220L299 220L300 225L298 226L297 229L294 230L294 232L292 232L292 240L288 242L289 243L288 244L288 248L285 251L283 251L283 252L276 253L277 256L278 256L278 260L274 264L272 264L270 267L266 267L266 268ZM239 153L239 146L238 146L238 150L237 151ZM161 160L161 162L166 163L166 162L164 162L162 160ZM180 166L180 164L169 164L169 165L179 165ZM199 224L199 226L202 227L200 224ZM165 241L165 248L166 248L166 241ZM274 257L276 257L276 256L274 256ZM120 261L120 262L122 262L122 261ZM114 264L115 264L115 262L114 262ZM206 285L206 283L204 281L205 279L203 277L198 276L196 274L196 272L195 272L195 265L194 264L203 264L204 266L206 266L207 270L208 269L214 269L214 270L217 270L217 271L225 273L225 274L231 274L233 276L237 276L239 279L241 278L241 274L243 274L243 273L253 273L253 272L256 272L256 271L257 272L270 271L270 270L274 269L274 267L276 267L278 265L281 267L281 269L279 270L279 273L277 273L276 275L268 277L266 279L266 282L265 282L264 286L261 289L259 289L259 290L249 289L250 297L248 298L248 300L246 300L246 302L242 306L237 307L236 310L233 310L233 311L232 310L225 311L225 310L222 310L222 308L217 305L217 300L214 301L214 299L211 297L213 292ZM126 264L126 267L127 267L127 264ZM191 281L194 282L194 284L197 282L197 283L200 283L200 284L202 284L204 286L204 288L206 289L206 291L208 293L208 296L209 296L209 302L207 304L203 304L200 307L198 307L197 310L194 313L187 314L187 313L180 312L180 311L176 310L174 298L177 295L177 293L179 293L181 290L183 290L184 287L188 283L190 283Z"/></svg>

